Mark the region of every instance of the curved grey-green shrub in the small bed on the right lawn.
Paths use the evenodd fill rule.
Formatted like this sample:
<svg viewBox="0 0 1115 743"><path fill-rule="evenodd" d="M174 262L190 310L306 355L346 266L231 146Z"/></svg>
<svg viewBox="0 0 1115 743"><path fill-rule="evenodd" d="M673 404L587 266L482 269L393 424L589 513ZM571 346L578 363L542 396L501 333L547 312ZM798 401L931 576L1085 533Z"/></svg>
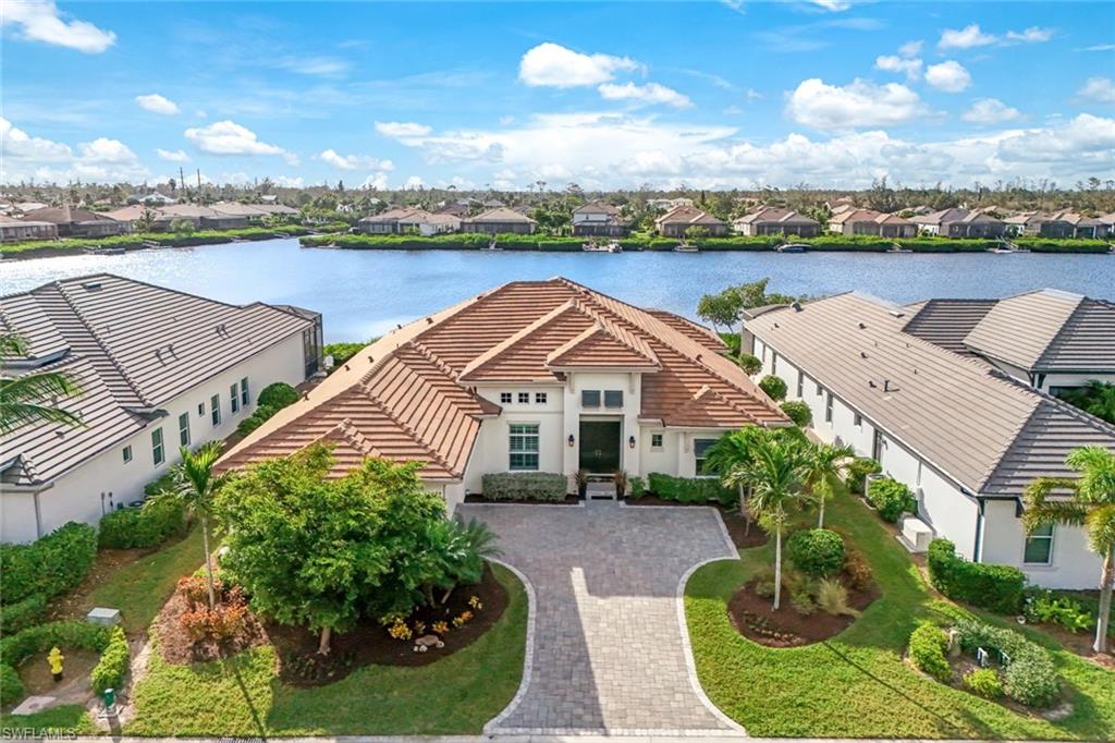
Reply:
<svg viewBox="0 0 1115 743"><path fill-rule="evenodd" d="M1048 707L1060 695L1060 679L1053 656L1022 635L981 621L961 619L956 624L960 647L975 656L978 648L995 653L1004 662L1004 692L1030 707Z"/></svg>

